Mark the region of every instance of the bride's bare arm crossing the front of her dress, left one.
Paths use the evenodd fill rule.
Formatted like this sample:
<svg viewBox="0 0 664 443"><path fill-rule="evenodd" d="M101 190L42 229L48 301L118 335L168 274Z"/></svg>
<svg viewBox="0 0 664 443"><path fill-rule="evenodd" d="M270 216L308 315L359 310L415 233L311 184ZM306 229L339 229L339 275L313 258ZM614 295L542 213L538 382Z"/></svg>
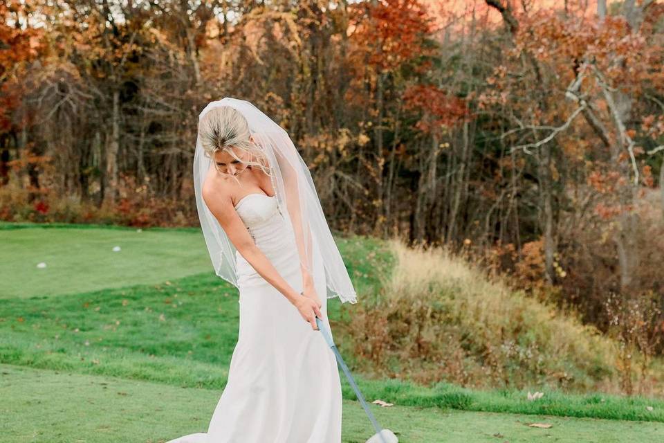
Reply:
<svg viewBox="0 0 664 443"><path fill-rule="evenodd" d="M279 274L272 262L266 257L254 243L248 233L242 219L235 211L230 198L219 198L219 190L214 188L203 188L203 199L210 212L219 221L228 239L241 255L251 264L257 273L267 282L273 285L277 291L291 302L302 314L304 320L311 323L313 329L317 329L315 315L322 318L318 306L310 298L302 297L290 284Z"/></svg>

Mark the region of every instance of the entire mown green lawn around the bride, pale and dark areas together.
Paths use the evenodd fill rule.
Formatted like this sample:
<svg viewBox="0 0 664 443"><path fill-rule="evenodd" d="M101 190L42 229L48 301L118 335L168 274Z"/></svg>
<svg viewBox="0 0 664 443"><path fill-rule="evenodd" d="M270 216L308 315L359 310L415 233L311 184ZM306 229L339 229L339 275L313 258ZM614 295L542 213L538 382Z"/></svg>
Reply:
<svg viewBox="0 0 664 443"><path fill-rule="evenodd" d="M212 273L202 235L7 227L0 226L0 398L8 399L0 402L0 428L12 436L6 441L158 442L204 431L225 386L238 311L237 290ZM50 258L39 261L54 265L37 269L44 244L53 244ZM111 251L116 244L122 251ZM376 296L379 276L391 265L382 244L361 237L339 244L358 292L365 300ZM98 266L104 260L116 266ZM329 300L333 328L343 327L347 309L353 308ZM521 391L357 376L369 400L395 404L374 408L402 442L664 441L661 399L545 392L527 401ZM342 383L344 442L364 442L368 420L343 377ZM526 426L538 421L553 426Z"/></svg>

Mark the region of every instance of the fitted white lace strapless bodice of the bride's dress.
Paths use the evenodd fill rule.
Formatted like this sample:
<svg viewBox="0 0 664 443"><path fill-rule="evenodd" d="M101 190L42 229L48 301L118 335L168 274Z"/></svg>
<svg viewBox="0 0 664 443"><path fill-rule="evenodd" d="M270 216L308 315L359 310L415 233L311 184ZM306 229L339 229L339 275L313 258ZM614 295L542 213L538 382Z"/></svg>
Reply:
<svg viewBox="0 0 664 443"><path fill-rule="evenodd" d="M295 234L277 204L277 197L257 192L242 197L235 205L254 243L275 268L299 263ZM235 251L238 284L258 283L262 277L239 251Z"/></svg>

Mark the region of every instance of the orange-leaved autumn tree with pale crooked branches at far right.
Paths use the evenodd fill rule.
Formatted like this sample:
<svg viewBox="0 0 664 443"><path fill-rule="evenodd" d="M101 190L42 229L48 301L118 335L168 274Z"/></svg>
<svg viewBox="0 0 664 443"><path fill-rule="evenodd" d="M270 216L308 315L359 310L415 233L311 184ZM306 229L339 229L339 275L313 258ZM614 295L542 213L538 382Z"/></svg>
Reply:
<svg viewBox="0 0 664 443"><path fill-rule="evenodd" d="M651 280L636 277L646 222L639 208L661 151L662 75L652 66L662 62L663 8L627 1L607 15L600 2L588 17L571 7L518 12L487 3L503 15L513 46L481 102L508 116L501 139L510 152L537 164L548 282L560 281L557 242L602 223L618 262L614 290L643 290Z"/></svg>

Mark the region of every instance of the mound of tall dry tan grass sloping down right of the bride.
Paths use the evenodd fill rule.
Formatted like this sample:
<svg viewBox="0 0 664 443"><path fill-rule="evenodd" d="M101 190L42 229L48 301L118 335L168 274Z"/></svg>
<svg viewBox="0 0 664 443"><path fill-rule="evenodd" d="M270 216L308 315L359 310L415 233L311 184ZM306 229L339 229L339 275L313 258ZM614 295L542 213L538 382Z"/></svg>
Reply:
<svg viewBox="0 0 664 443"><path fill-rule="evenodd" d="M380 296L349 310L358 370L423 384L620 390L618 345L574 314L445 248L389 246L396 264Z"/></svg>

